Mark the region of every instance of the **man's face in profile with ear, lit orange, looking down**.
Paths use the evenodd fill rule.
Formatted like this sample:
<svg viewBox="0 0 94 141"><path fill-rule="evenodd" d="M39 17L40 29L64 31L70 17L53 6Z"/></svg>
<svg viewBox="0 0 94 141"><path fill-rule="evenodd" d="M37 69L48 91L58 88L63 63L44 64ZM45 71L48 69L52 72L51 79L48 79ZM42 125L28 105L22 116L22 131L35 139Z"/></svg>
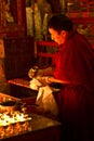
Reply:
<svg viewBox="0 0 94 141"><path fill-rule="evenodd" d="M62 30L58 33L57 30L53 28L49 28L49 33L51 34L52 40L54 40L58 44L63 44L68 36L68 31L66 30Z"/></svg>

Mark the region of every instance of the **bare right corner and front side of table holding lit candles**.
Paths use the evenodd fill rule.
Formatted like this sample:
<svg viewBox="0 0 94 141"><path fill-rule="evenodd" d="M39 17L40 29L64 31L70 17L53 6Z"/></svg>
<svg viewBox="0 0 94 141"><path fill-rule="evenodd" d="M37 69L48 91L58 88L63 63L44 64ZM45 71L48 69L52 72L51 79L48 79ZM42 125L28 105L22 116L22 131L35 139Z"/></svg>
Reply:
<svg viewBox="0 0 94 141"><path fill-rule="evenodd" d="M31 130L1 141L61 141L61 124L50 118L30 114Z"/></svg>

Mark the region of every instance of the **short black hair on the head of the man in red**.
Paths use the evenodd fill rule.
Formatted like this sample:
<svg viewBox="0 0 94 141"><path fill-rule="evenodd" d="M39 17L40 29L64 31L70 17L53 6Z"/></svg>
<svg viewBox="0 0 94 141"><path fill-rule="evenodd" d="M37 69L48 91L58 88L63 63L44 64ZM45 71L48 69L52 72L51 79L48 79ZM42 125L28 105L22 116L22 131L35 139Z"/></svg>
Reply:
<svg viewBox="0 0 94 141"><path fill-rule="evenodd" d="M58 33L61 30L70 31L72 30L73 24L69 17L64 14L53 15L48 23L49 28L53 28Z"/></svg>

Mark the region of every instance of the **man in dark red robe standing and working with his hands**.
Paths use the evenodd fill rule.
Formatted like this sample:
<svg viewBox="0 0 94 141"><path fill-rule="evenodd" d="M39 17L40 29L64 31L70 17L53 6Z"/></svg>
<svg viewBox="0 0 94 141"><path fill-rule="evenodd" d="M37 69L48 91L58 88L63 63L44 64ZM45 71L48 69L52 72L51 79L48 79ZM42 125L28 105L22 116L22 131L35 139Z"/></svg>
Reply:
<svg viewBox="0 0 94 141"><path fill-rule="evenodd" d="M52 75L48 82L61 82L59 121L63 141L94 140L94 51L88 39L73 29L64 14L49 21L51 38L58 43L54 64L38 75ZM31 72L29 70L29 77Z"/></svg>

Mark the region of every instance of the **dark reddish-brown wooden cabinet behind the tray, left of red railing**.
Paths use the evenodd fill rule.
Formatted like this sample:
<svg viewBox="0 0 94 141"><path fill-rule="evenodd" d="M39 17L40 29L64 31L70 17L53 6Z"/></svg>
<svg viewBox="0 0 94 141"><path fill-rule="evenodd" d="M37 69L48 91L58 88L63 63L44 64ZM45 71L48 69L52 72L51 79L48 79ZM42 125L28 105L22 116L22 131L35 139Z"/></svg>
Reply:
<svg viewBox="0 0 94 141"><path fill-rule="evenodd" d="M27 77L28 70L35 61L33 38L5 38L3 41L5 52L3 64L6 80Z"/></svg>

